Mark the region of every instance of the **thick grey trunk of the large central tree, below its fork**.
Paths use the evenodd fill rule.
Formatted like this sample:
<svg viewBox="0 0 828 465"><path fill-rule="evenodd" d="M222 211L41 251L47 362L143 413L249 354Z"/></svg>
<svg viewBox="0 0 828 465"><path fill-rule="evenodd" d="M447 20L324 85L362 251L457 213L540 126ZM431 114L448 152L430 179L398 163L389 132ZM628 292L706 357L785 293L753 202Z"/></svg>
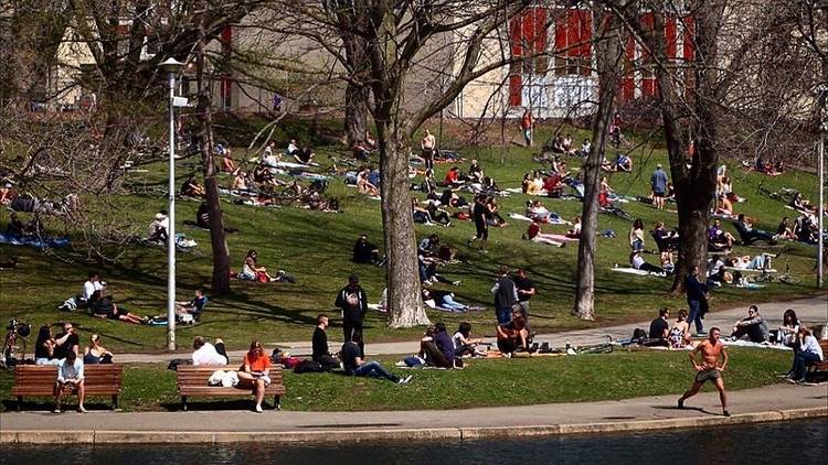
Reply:
<svg viewBox="0 0 828 465"><path fill-rule="evenodd" d="M408 194L410 134L395 121L376 121L382 173L382 226L385 238L385 281L389 326L427 325L420 292L417 242Z"/></svg>

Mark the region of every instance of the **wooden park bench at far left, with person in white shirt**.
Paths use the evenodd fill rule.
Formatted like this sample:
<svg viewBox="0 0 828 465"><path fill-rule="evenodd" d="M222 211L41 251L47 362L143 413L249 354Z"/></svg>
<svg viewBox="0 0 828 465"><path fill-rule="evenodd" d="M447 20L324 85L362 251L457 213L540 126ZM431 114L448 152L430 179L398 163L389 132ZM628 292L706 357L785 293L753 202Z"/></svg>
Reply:
<svg viewBox="0 0 828 465"><path fill-rule="evenodd" d="M113 410L118 408L124 366L102 364L84 366L86 397L112 396ZM54 365L18 365L14 367L14 387L11 394L18 398L18 410L24 397L53 397L57 381L57 367ZM72 390L77 394L77 389Z"/></svg>

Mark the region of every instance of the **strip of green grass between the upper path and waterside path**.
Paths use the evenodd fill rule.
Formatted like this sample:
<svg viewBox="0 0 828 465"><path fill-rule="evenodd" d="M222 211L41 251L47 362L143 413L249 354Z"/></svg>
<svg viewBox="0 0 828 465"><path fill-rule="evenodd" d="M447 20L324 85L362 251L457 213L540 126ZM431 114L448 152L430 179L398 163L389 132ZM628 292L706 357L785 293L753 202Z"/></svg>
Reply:
<svg viewBox="0 0 828 465"><path fill-rule="evenodd" d="M790 353L733 348L725 372L728 390L777 382L774 372L790 365ZM399 358L397 358L399 359ZM386 366L397 359L382 357ZM686 352L616 350L607 355L471 360L463 370L400 370L411 374L406 386L338 374L285 374L286 410L440 410L474 407L585 402L683 392L692 382ZM0 394L9 399L12 376L0 372ZM176 374L162 365L128 365L120 404L125 411L178 409ZM707 386L704 390L711 390ZM106 399L99 402L105 402ZM250 401L192 399L206 409L250 408ZM45 408L47 400L29 408ZM93 401L94 402L94 401ZM6 408L10 404L7 402Z"/></svg>

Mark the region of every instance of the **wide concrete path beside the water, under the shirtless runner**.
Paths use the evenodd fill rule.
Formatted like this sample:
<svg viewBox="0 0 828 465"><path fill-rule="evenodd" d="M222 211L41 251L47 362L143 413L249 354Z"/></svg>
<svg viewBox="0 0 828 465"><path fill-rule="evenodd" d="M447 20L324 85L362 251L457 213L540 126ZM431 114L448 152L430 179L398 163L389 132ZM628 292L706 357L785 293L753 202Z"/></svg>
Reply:
<svg viewBox="0 0 828 465"><path fill-rule="evenodd" d="M405 390L406 386L389 389ZM480 439L689 428L828 415L828 386L776 385L730 393L731 418L716 393L676 407L678 394L620 401L481 408L461 414L402 412L0 413L0 444ZM215 408L215 405L211 405Z"/></svg>

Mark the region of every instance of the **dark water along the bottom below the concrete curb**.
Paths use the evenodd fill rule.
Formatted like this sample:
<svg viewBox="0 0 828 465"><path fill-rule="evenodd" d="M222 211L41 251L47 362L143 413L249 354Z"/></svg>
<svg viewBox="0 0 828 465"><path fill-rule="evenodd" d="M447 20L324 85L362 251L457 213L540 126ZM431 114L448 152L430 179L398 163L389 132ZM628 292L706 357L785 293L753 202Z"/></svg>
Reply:
<svg viewBox="0 0 828 465"><path fill-rule="evenodd" d="M828 463L825 419L636 434L432 443L3 446L0 464Z"/></svg>

